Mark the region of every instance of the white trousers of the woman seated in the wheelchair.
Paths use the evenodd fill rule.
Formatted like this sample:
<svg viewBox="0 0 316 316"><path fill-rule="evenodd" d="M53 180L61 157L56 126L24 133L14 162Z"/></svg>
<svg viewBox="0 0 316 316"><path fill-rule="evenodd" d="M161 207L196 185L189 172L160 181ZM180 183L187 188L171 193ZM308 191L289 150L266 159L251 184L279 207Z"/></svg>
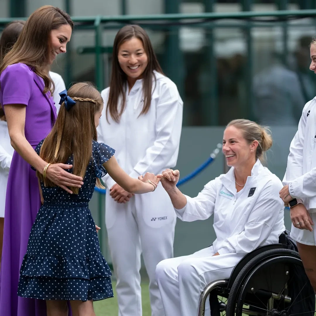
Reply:
<svg viewBox="0 0 316 316"><path fill-rule="evenodd" d="M156 267L156 280L166 316L196 316L200 295L207 284L229 279L243 254L213 256L213 246L189 256L166 259ZM205 315L210 315L206 300Z"/></svg>

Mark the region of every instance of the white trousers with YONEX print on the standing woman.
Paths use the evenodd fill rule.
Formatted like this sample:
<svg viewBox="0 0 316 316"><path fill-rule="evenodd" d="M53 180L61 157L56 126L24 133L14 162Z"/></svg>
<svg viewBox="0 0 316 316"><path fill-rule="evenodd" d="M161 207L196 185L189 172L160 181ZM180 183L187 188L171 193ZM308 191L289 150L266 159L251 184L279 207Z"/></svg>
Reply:
<svg viewBox="0 0 316 316"><path fill-rule="evenodd" d="M152 316L164 316L156 265L173 257L176 214L166 191L158 185L155 192L135 194L119 204L106 191L106 229L114 274L119 316L141 316L141 253L149 276Z"/></svg>

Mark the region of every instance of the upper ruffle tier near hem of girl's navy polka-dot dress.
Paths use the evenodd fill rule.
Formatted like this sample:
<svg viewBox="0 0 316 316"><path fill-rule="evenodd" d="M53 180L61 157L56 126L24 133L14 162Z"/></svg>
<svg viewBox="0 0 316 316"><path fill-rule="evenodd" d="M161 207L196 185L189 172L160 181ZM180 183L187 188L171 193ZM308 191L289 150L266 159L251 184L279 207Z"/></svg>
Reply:
<svg viewBox="0 0 316 316"><path fill-rule="evenodd" d="M21 276L47 276L56 279L92 279L112 275L102 255L94 257L35 256L26 254L20 270Z"/></svg>

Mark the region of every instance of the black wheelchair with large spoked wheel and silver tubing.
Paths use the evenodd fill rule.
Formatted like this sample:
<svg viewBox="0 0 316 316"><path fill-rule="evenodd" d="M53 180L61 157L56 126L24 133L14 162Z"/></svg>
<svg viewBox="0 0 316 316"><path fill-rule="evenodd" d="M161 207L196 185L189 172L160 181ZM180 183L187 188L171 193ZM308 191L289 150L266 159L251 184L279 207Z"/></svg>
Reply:
<svg viewBox="0 0 316 316"><path fill-rule="evenodd" d="M208 284L200 295L198 316L204 316L208 295L211 316L314 315L315 293L296 245L289 249L285 235L280 239L282 243L248 253L229 280Z"/></svg>

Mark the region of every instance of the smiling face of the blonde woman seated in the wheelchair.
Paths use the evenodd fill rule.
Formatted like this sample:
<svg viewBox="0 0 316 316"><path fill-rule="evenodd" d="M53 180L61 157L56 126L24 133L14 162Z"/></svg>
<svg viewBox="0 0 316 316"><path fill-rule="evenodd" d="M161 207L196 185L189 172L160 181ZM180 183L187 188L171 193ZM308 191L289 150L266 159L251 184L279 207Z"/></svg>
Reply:
<svg viewBox="0 0 316 316"><path fill-rule="evenodd" d="M243 131L228 126L223 136L223 154L229 167L239 167L255 159L258 141L249 143L243 136Z"/></svg>

